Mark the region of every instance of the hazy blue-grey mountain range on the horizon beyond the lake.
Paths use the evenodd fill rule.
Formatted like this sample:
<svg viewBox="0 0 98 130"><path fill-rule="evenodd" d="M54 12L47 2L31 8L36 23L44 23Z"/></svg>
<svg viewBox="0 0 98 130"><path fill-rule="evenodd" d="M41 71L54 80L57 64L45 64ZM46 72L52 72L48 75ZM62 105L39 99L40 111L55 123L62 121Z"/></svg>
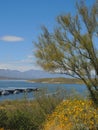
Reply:
<svg viewBox="0 0 98 130"><path fill-rule="evenodd" d="M53 74L41 70L17 71L9 69L0 69L0 79L39 79L65 77L62 74Z"/></svg>

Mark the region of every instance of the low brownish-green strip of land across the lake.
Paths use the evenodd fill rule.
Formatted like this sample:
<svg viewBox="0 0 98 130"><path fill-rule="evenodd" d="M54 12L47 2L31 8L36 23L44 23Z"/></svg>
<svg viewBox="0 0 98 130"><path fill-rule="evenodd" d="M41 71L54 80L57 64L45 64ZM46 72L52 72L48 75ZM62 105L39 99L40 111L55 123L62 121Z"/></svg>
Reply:
<svg viewBox="0 0 98 130"><path fill-rule="evenodd" d="M39 83L64 83L64 84L82 84L80 79L70 79L70 78L40 78L29 80L30 82L39 82Z"/></svg>

